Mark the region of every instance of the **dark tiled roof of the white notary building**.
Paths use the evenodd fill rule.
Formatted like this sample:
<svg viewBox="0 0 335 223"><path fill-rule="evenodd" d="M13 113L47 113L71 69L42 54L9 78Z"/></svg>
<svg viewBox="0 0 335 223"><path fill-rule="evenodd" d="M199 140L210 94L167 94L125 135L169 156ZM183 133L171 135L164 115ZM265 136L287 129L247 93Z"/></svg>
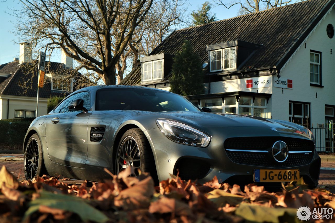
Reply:
<svg viewBox="0 0 335 223"><path fill-rule="evenodd" d="M149 55L172 54L181 51L184 40L204 62L208 60L206 45L242 40L260 47L240 70L277 66L287 52L293 53L299 41L311 32L316 20L334 4L334 0L310 0L283 7L241 15L221 21L192 26L174 31ZM324 9L327 6L328 9ZM293 52L292 52L293 51ZM140 84L141 67L136 67L121 84Z"/></svg>

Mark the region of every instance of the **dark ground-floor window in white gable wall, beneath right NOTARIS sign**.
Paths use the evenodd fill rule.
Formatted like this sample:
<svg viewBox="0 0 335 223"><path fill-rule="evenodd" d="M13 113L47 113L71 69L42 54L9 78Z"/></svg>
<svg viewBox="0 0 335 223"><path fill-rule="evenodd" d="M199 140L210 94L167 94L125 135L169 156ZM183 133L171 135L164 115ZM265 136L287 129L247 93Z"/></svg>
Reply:
<svg viewBox="0 0 335 223"><path fill-rule="evenodd" d="M288 103L288 117L290 122L303 125L307 128L311 127L310 122L310 106L311 103L299 102L299 101L289 101Z"/></svg>

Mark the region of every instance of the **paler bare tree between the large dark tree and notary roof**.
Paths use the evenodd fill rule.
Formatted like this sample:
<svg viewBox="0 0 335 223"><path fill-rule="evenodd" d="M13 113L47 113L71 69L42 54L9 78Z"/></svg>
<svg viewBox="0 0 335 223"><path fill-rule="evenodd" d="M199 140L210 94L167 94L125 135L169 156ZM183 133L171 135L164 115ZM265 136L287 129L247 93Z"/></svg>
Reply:
<svg viewBox="0 0 335 223"><path fill-rule="evenodd" d="M132 64L128 71L134 69L139 63L139 58L147 56L173 29L188 26L185 16L186 4L186 0L153 1L147 16L141 25L135 28L133 38L116 67L118 83L124 77L127 64Z"/></svg>

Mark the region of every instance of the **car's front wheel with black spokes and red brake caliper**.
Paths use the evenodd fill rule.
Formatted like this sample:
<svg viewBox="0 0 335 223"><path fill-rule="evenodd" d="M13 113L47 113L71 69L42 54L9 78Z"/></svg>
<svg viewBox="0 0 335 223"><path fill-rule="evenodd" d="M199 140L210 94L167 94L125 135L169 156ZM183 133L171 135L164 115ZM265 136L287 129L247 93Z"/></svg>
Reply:
<svg viewBox="0 0 335 223"><path fill-rule="evenodd" d="M155 160L149 142L141 129L129 129L121 137L116 153L115 172L133 166L142 172L149 172L158 183ZM135 170L135 173L138 172Z"/></svg>

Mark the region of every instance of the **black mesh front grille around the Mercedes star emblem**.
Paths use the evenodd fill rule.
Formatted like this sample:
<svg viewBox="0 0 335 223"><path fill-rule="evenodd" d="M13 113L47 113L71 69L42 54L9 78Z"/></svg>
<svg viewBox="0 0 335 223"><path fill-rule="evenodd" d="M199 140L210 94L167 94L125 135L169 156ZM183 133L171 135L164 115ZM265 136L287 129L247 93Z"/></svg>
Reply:
<svg viewBox="0 0 335 223"><path fill-rule="evenodd" d="M289 153L287 159L279 163L272 156L272 146L276 141L286 143L289 151L312 151L311 153ZM312 161L314 144L310 140L289 137L238 137L224 142L224 149L229 159L235 163L265 166L290 167L305 165ZM248 152L229 150L266 150L269 152Z"/></svg>

